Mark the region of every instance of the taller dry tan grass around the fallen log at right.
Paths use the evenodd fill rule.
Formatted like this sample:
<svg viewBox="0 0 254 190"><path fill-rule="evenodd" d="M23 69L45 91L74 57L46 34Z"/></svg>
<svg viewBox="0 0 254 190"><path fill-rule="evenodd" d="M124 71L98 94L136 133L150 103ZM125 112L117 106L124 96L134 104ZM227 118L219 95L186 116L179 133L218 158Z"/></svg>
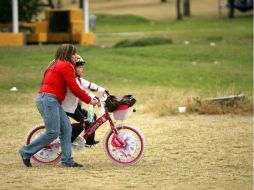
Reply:
<svg viewBox="0 0 254 190"><path fill-rule="evenodd" d="M209 97L232 95L234 93L225 90L225 92L217 92L216 95L212 94L214 93L204 94L204 92L194 90L157 88L150 92L144 112L153 113L157 116L175 115L179 114L178 107L185 106L187 113L242 115L252 115L253 113L252 96L245 96L242 100L208 101Z"/></svg>

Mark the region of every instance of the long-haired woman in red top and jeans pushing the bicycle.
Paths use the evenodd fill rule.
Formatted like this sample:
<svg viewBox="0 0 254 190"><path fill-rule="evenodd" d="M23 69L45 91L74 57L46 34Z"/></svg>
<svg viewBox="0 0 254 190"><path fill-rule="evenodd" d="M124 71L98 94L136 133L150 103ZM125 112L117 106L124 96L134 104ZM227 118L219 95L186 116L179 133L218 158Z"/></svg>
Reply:
<svg viewBox="0 0 254 190"><path fill-rule="evenodd" d="M23 146L19 153L25 166L31 167L30 158L39 150L50 144L58 136L61 141L61 163L65 167L82 167L71 156L71 124L62 108L62 101L67 87L85 103L97 105L77 84L74 75L76 48L71 44L61 45L55 54L55 59L48 66L36 97L36 106L46 127L45 133L40 135L31 144Z"/></svg>

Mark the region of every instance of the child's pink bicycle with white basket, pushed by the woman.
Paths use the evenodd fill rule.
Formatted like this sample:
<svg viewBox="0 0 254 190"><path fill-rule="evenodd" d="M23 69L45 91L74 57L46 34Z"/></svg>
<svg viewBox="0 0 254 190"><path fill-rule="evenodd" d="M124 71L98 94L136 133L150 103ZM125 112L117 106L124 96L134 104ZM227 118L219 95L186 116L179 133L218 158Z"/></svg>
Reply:
<svg viewBox="0 0 254 190"><path fill-rule="evenodd" d="M104 139L104 150L108 158L121 166L129 166L138 163L144 155L145 142L143 134L135 127L119 123L116 124L111 118L110 111L112 111L112 104L110 104L108 96L106 101L101 101L104 113L92 122L83 133L80 139L87 139L93 132L95 132L103 123L109 122L110 130L106 133ZM106 102L106 103L105 103ZM111 102L112 103L112 102ZM135 103L135 102L134 102ZM115 110L113 117L115 120L125 120L128 114L128 105L121 103L113 103ZM91 108L90 108L91 109ZM91 116L91 115L90 115ZM91 116L93 118L93 116ZM32 128L27 137L26 144L30 144L35 138L45 131L44 124L40 124ZM32 160L40 164L56 164L61 159L60 139L55 139L47 147L41 149L32 156Z"/></svg>

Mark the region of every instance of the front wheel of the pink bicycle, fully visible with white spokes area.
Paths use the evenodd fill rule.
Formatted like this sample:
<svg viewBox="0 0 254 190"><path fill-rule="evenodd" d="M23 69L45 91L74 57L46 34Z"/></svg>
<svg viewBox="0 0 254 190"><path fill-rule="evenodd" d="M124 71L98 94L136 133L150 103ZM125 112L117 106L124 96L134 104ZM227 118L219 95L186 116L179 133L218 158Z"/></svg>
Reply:
<svg viewBox="0 0 254 190"><path fill-rule="evenodd" d="M104 150L107 156L121 166L137 164L145 152L143 134L135 127L127 124L116 125L116 129L118 131L117 137L111 130L105 137ZM119 138L125 142L124 146L117 142Z"/></svg>

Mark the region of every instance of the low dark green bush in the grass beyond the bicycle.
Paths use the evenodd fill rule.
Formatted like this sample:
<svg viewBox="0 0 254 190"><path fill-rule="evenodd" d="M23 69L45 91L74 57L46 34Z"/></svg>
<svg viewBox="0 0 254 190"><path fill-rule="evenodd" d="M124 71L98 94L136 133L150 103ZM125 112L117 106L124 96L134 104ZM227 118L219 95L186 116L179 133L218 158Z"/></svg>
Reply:
<svg viewBox="0 0 254 190"><path fill-rule="evenodd" d="M142 46L152 46L152 45L162 45L162 44L172 44L171 39L166 38L142 38L138 40L122 40L114 45L114 48L124 48L124 47L142 47Z"/></svg>

